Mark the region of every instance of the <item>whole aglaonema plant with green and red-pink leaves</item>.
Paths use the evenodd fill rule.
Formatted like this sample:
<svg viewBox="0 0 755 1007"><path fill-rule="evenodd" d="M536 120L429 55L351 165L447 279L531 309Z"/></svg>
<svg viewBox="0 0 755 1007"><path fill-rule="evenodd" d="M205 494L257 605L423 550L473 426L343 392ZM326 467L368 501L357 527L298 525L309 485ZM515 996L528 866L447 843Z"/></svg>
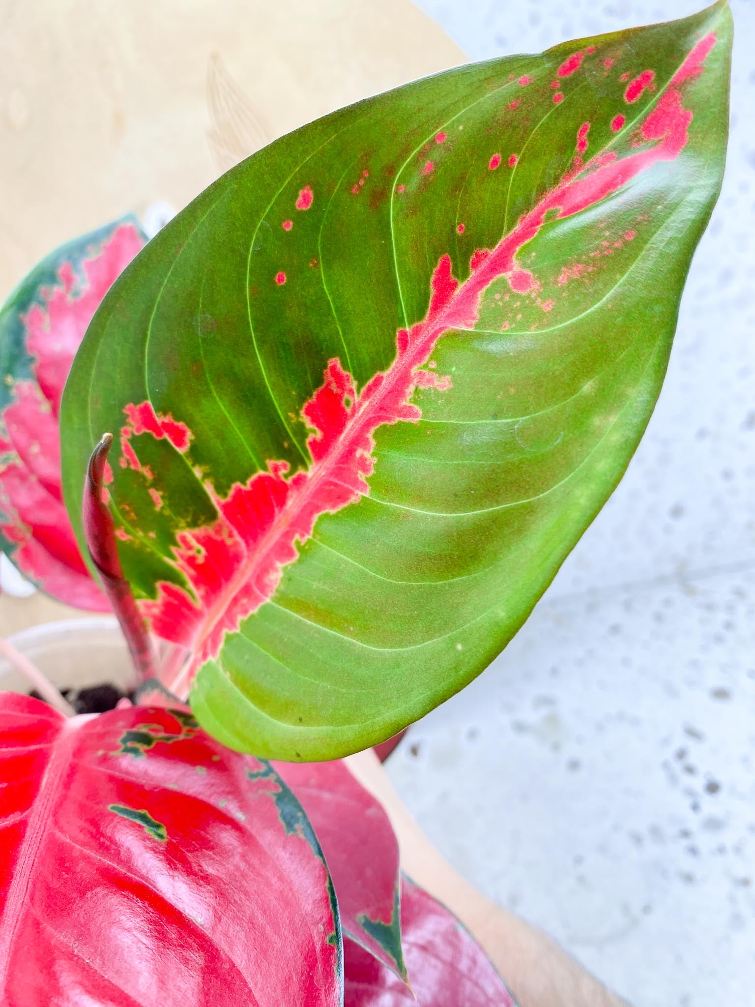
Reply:
<svg viewBox="0 0 755 1007"><path fill-rule="evenodd" d="M730 42L717 3L400 88L11 296L2 544L115 612L135 693L0 701L4 1003L513 1002L341 759L488 664L620 479Z"/></svg>

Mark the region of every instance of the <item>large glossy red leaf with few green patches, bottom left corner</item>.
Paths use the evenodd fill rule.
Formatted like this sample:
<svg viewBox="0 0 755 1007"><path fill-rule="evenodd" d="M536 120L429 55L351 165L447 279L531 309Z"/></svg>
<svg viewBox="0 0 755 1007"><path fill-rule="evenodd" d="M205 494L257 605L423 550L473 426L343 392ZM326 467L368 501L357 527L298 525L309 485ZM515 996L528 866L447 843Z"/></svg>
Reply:
<svg viewBox="0 0 755 1007"><path fill-rule="evenodd" d="M189 713L65 720L4 693L0 794L7 1007L341 1002L337 910L301 806Z"/></svg>

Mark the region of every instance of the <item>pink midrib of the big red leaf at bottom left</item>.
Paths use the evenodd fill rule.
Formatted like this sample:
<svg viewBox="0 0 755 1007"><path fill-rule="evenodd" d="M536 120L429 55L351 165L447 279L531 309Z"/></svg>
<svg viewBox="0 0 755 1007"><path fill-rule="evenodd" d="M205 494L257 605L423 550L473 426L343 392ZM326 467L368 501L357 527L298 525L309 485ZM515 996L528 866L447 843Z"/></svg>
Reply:
<svg viewBox="0 0 755 1007"><path fill-rule="evenodd" d="M77 722L78 721L78 722ZM79 718L60 718L60 733L51 742L52 753L44 768L39 788L31 808L29 822L21 842L13 879L0 915L0 995L7 993L6 984L12 961L12 950L18 927L25 914L27 894L48 827L52 806L59 797L60 780L67 768L76 740ZM10 921L10 922L9 922Z"/></svg>

